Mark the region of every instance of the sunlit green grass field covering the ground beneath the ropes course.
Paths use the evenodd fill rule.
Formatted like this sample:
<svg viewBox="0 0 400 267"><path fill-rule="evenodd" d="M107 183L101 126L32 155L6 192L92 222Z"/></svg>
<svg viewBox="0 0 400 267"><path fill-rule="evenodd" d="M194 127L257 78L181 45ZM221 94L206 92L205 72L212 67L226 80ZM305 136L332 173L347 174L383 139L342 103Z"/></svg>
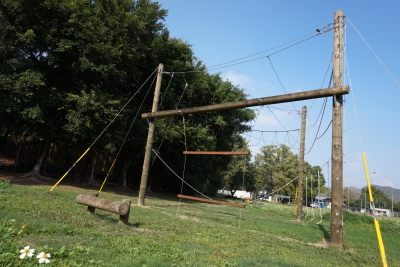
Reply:
<svg viewBox="0 0 400 267"><path fill-rule="evenodd" d="M19 259L30 245L51 254L52 266L381 266L371 218L347 214L343 250L330 247L329 214L296 222L292 206L249 204L245 209L153 194L136 206L136 192L99 197L131 199L129 225L117 214L78 204L95 189L49 185L0 186L0 267L38 266ZM305 211L306 214L306 211ZM389 266L400 266L400 226L382 218ZM27 228L21 227L26 224Z"/></svg>

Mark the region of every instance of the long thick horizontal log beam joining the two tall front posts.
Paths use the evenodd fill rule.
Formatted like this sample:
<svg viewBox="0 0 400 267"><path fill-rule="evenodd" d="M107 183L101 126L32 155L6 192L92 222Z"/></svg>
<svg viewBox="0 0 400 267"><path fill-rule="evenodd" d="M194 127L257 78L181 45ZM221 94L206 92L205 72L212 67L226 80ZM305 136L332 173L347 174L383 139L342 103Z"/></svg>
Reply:
<svg viewBox="0 0 400 267"><path fill-rule="evenodd" d="M338 86L333 88L297 92L286 95L269 96L269 97L223 103L217 105L143 113L142 119L162 118L162 117L170 117L170 116L185 115L185 114L204 113L210 111L221 111L221 110L255 107L262 105L272 105L272 104L287 103L287 102L301 101L307 99L322 98L333 95L345 95L348 94L349 92L350 89L348 86Z"/></svg>

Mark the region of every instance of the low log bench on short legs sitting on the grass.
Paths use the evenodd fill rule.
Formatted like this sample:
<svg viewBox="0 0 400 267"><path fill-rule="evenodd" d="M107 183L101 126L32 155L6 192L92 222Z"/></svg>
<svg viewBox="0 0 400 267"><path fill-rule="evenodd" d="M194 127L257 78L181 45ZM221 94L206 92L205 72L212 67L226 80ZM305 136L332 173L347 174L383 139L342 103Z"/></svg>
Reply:
<svg viewBox="0 0 400 267"><path fill-rule="evenodd" d="M131 200L113 201L105 198L99 198L98 194L84 195L76 197L76 202L88 206L87 211L93 214L96 208L119 214L119 222L128 224L129 213L131 209Z"/></svg>

